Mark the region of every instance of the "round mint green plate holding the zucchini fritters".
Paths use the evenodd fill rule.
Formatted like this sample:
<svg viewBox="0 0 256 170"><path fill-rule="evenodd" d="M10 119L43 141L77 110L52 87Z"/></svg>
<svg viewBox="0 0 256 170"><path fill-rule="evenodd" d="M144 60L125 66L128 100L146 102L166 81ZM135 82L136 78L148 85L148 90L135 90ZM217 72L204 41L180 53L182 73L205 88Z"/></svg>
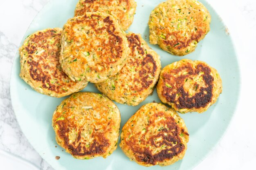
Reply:
<svg viewBox="0 0 256 170"><path fill-rule="evenodd" d="M148 42L148 18L150 12L163 0L137 0L137 11L134 22L128 31L141 33ZM38 13L27 30L25 38L35 31L49 27L62 27L67 19L72 18L77 0L51 0ZM223 92L218 101L205 113L187 113L180 116L185 120L190 139L183 160L166 166L145 168L132 162L118 147L112 155L91 160L72 158L56 144L52 128L52 113L64 98L53 98L41 95L30 88L20 77L20 59L16 54L11 74L11 99L17 120L29 142L36 151L56 170L190 170L200 163L224 135L235 113L240 89L240 72L238 58L230 36L226 33L225 24L212 9L201 1L211 13L211 31L202 40L197 49L184 57L173 56L150 45L161 56L162 68L172 62L189 58L207 62L218 70L223 82ZM93 84L83 91L98 92ZM121 127L139 109L149 102L160 102L156 91L139 106L117 104L121 111ZM55 146L58 146L55 148ZM61 157L56 160L55 157Z"/></svg>

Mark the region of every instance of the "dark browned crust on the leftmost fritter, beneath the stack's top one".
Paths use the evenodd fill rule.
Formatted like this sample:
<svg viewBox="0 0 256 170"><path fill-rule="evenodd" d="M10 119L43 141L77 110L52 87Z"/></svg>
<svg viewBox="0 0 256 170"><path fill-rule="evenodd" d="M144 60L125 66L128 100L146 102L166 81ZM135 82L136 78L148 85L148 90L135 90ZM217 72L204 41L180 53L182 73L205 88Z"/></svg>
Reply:
<svg viewBox="0 0 256 170"><path fill-rule="evenodd" d="M44 44L45 41L47 41L48 38L51 38L52 36L56 36L54 41L54 46L58 46L58 50L50 50L49 44ZM49 90L54 91L56 93L65 93L65 91L61 88L61 86L56 86L55 84L52 84L50 82L50 79L52 78L49 76L49 72L53 71L53 76L56 79L61 79L63 76L67 77L63 71L59 71L56 68L50 67L46 62L42 62L45 60L49 60L56 63L56 67L60 68L60 63L58 62L58 57L60 55L60 38L61 38L61 32L56 32L54 30L48 30L46 32L39 32L38 35L34 35L30 38L30 44L29 46L26 46L26 51L28 53L28 60L27 63L29 64L29 74L32 79L34 79L37 82L41 82L43 84L43 88L48 88L46 84L48 83ZM41 43L42 42L42 43ZM48 52L50 55L47 55L47 53L43 53L43 55L38 56L38 61L34 61L34 56L32 54L36 53L36 49L42 48L42 49L48 49ZM53 54L53 55L52 55ZM67 86L71 87L70 84Z"/></svg>

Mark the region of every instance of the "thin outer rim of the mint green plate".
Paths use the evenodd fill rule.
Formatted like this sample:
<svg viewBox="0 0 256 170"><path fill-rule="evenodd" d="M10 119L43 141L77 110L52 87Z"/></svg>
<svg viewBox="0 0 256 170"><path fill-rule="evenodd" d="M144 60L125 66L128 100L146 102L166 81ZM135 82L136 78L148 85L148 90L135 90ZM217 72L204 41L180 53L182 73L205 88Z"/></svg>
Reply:
<svg viewBox="0 0 256 170"><path fill-rule="evenodd" d="M22 133L25 135L25 137L27 138L27 140L29 141L29 144L35 149L35 151L38 153L38 155L40 155L40 157L42 157L52 168L54 168L54 169L56 169L56 168L58 168L57 166L55 166L55 164L54 163L52 163L52 161L48 161L48 160L46 160L45 158L46 158L46 155L43 155L43 154L41 154L40 152L38 152L37 150L39 150L39 148L36 146L36 145L33 145L32 143L31 143L31 141L32 141L32 139L30 139L30 137L28 137L25 133L24 133L24 128L22 127L22 126L20 126L20 122L19 122L19 120L18 120L18 117L19 116L17 116L17 108L15 108L14 106L13 106L13 98L15 98L15 95L13 94L13 88L14 88L14 86L12 85L13 83L13 76L14 76L14 74L16 74L16 73L14 73L14 65L15 65L15 60L18 60L18 56L19 56L19 48L20 48L20 46L23 44L23 40L25 39L25 37L26 37L26 33L27 33L27 31L29 30L29 28L31 27L31 24L34 22L34 20L36 20L36 18L38 18L38 15L42 12L42 11L45 11L46 9L47 9L47 7L53 2L54 0L49 0L44 6L43 6L43 8L42 9L40 9L39 11L38 11L38 13L35 15L35 17L33 18L33 20L31 21L31 23L29 24L29 26L27 27L27 30L25 31L25 34L24 34L24 36L22 37L22 39L21 39L21 42L20 42L20 44L19 44L19 46L18 46L18 49L17 49L17 52L15 53L15 55L14 55L14 57L13 57L13 64L12 64L12 67L11 67L11 75L10 75L10 97L11 97L11 107L13 108L13 112L14 112L14 114L15 114L15 116L16 116L16 119L17 119L17 123L18 123L18 125L19 125L19 127L20 127L20 129L21 129L21 131L22 131ZM207 4L209 7L211 7L211 9L216 13L216 15L218 16L218 18L220 18L220 22L226 27L226 28L228 28L227 27L227 24L225 24L225 21L221 18L221 16L218 14L218 12L216 11L216 9L214 9L213 8L213 6L211 5L211 3L209 2L209 0L204 0L205 1L205 3L204 4ZM199 1L199 2L201 2L201 1ZM202 2L201 2L202 3ZM225 130L224 130L224 132L222 132L222 135L221 135L221 137L216 141L216 143L209 149L209 151L204 155L204 157L202 157L199 161L198 161L198 163L196 163L195 165L193 165L193 166L191 166L191 169L194 169L195 167L197 167L200 163L202 163L202 161L204 161L204 159L206 159L212 152L213 152L213 150L215 150L216 149L216 146L220 143L220 141L223 139L223 137L226 135L226 133L227 133L227 131L229 130L229 128L230 128L230 126L231 126L231 123L232 123L232 121L234 120L234 117L236 116L236 114L237 114L237 111L238 111L238 105L240 104L240 98L241 98L241 84L242 84L242 81L241 81L241 68L240 68L240 58L239 58L239 55L238 55L238 53L237 53L237 48L236 48L236 45L235 45L235 43L234 43L234 38L233 38L233 35L232 35L232 33L230 32L230 34L229 34L229 37L230 37L230 42L231 42L231 46L234 48L234 56L235 56L235 58L236 58L236 60L237 60L237 70L238 70L238 75L237 75L237 78L238 78L238 84L237 84L237 86L238 86L238 96L237 96L237 99L236 99L236 106L234 107L234 112L233 112L233 114L231 115L231 118L229 119L229 121L228 121L228 125L227 125L227 128L225 128ZM17 56L17 57L16 57ZM179 57L179 56L177 56L177 57Z"/></svg>

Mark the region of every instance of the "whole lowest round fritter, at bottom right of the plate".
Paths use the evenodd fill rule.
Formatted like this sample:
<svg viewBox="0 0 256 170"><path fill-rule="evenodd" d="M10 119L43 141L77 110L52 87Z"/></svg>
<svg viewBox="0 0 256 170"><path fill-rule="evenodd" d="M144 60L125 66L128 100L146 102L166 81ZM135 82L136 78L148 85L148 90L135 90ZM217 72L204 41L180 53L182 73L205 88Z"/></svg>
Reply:
<svg viewBox="0 0 256 170"><path fill-rule="evenodd" d="M119 145L139 165L167 166L184 157L188 141L186 125L175 110L149 103L126 122Z"/></svg>

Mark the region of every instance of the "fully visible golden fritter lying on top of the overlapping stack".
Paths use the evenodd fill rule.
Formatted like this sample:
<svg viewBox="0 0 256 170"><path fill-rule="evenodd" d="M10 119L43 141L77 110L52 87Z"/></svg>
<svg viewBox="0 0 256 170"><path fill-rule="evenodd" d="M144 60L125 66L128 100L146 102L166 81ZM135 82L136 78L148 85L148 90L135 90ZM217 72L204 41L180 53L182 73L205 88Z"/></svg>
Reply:
<svg viewBox="0 0 256 170"><path fill-rule="evenodd" d="M71 18L61 36L61 66L73 81L103 82L126 62L126 33L111 15L95 12Z"/></svg>

